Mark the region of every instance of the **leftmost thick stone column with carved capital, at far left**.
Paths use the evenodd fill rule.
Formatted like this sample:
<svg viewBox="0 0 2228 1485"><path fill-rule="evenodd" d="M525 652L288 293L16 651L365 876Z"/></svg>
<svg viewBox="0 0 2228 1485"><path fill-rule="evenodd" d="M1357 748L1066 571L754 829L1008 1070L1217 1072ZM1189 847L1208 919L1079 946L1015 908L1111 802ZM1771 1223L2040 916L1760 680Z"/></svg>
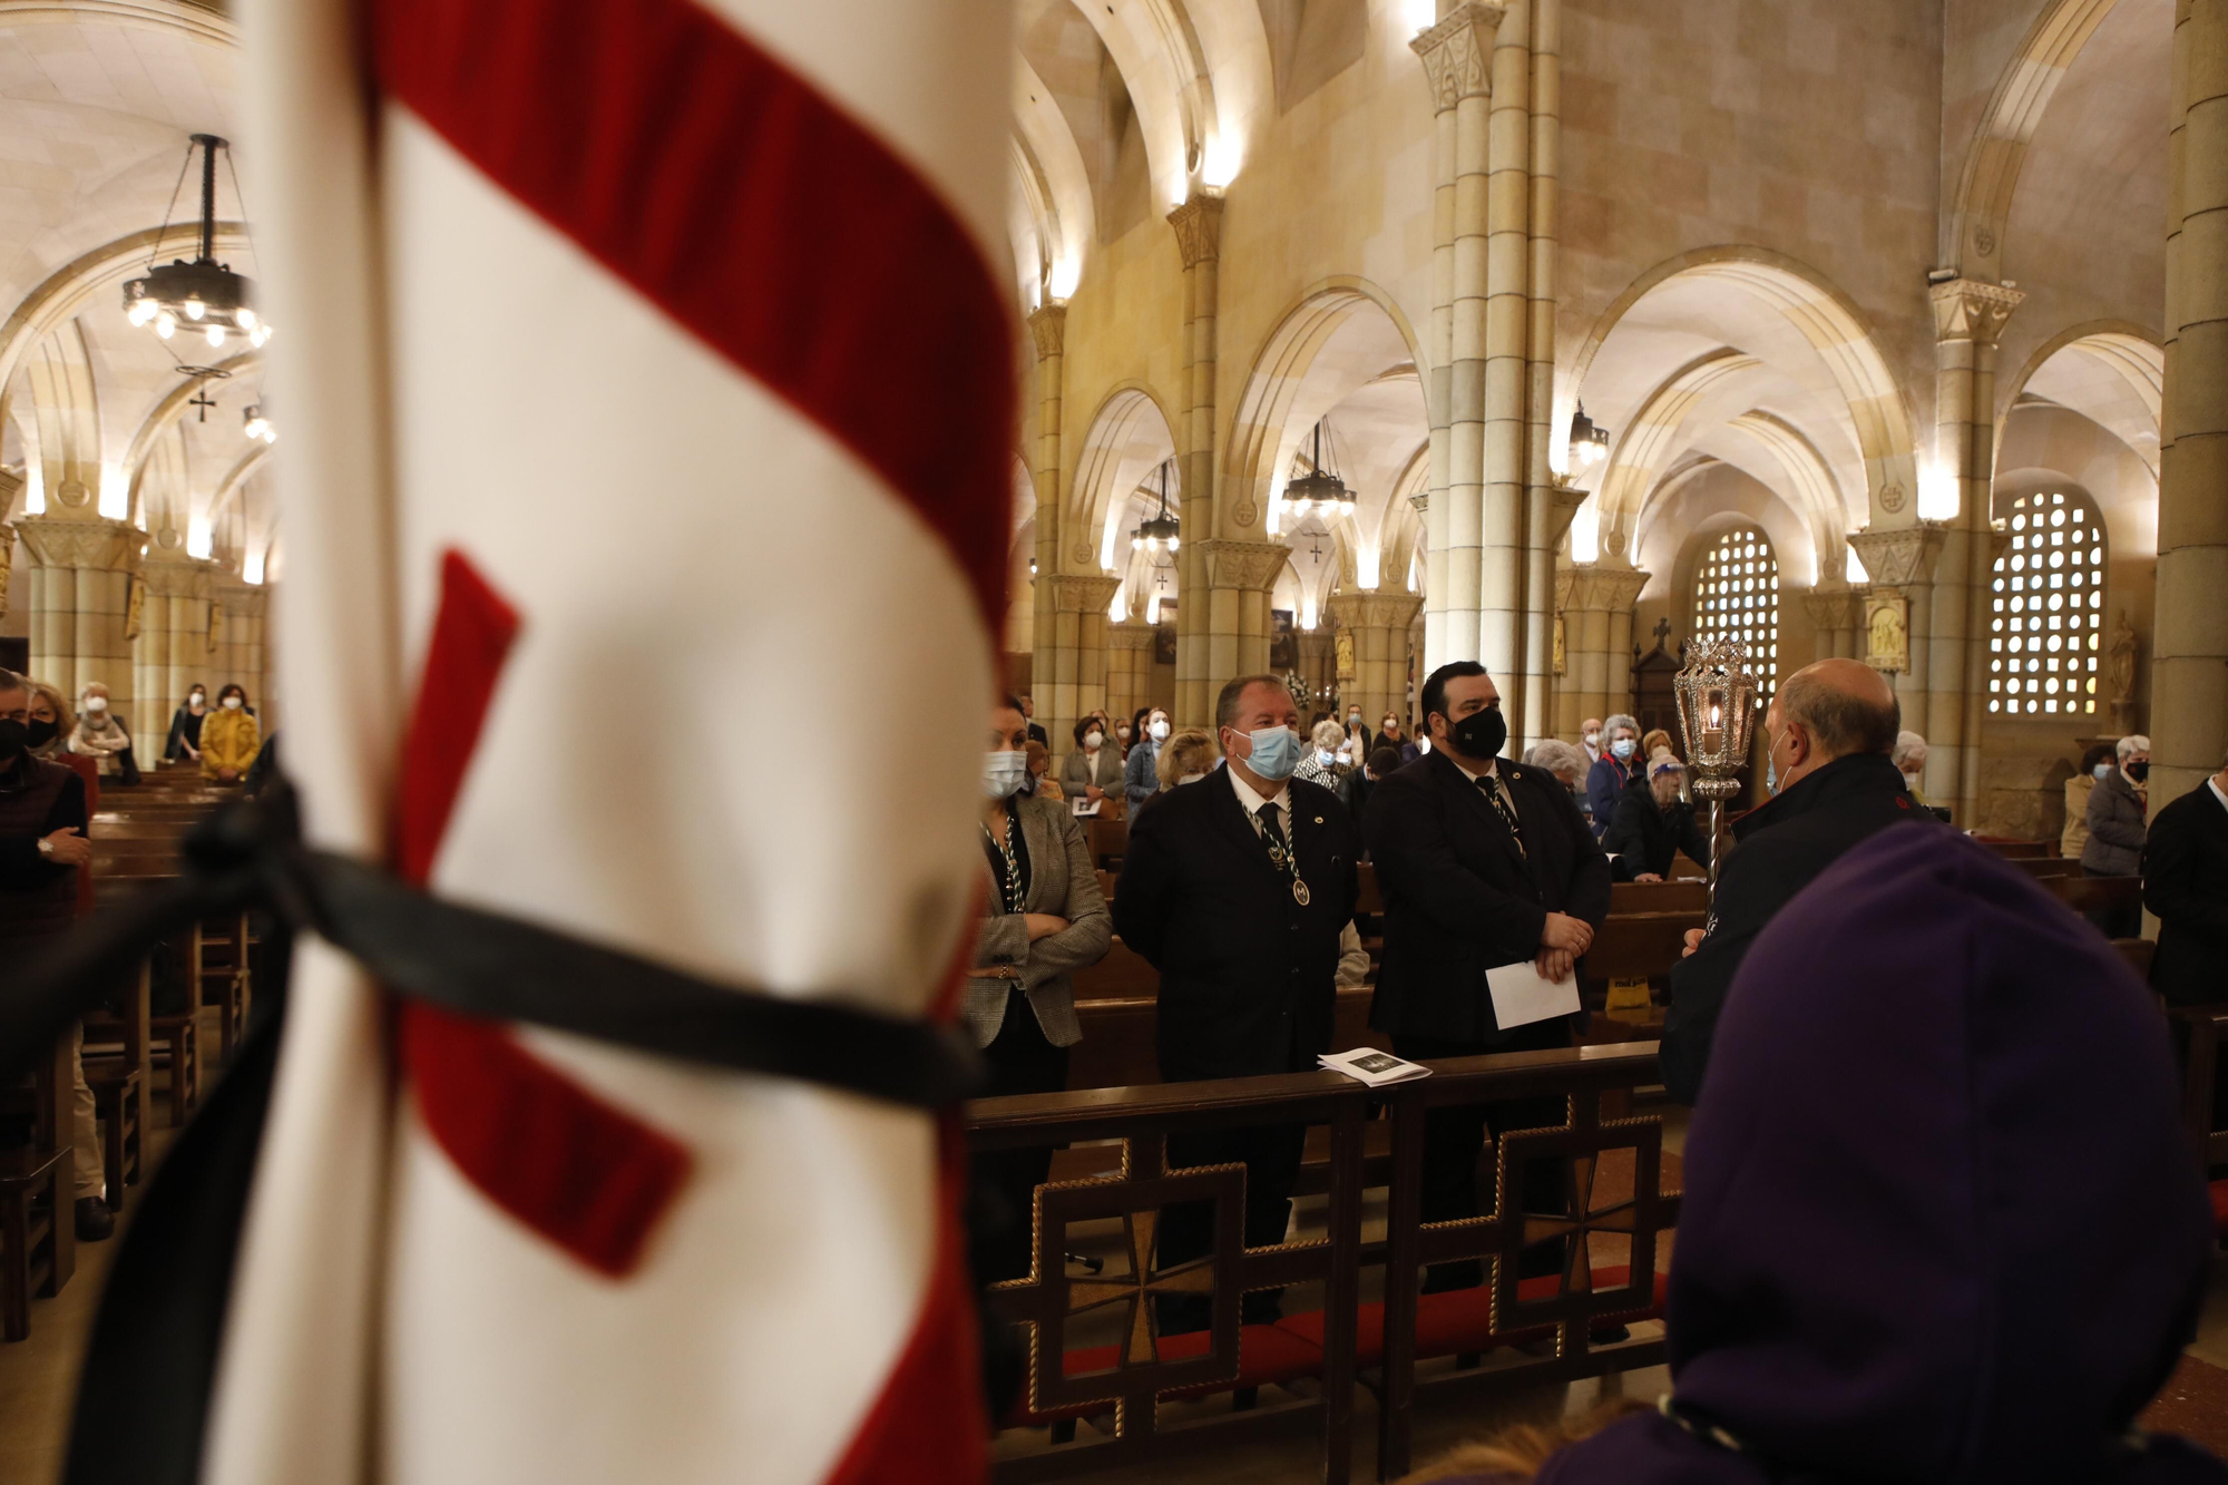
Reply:
<svg viewBox="0 0 2228 1485"><path fill-rule="evenodd" d="M80 502L89 511L89 493L80 491ZM31 557L31 673L71 700L98 680L111 705L136 722L125 629L147 533L76 513L27 515L16 533Z"/></svg>

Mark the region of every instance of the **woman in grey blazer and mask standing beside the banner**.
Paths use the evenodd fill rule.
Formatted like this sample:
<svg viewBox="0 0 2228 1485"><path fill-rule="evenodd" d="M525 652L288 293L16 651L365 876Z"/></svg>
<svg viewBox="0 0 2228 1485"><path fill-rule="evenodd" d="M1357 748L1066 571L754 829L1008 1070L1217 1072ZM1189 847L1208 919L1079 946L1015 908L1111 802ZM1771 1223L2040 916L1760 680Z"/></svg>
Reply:
<svg viewBox="0 0 2228 1485"><path fill-rule="evenodd" d="M1076 970L1105 959L1114 919L1098 894L1083 827L1045 798L1018 794L1027 776L1029 725L1005 700L989 711L983 754L983 932L960 992L960 1015L989 1064L987 1097L1058 1093L1076 1021ZM996 1193L998 1222L974 1238L976 1280L1029 1271L1029 1209L1052 1171L1052 1151L976 1155L976 1186Z"/></svg>

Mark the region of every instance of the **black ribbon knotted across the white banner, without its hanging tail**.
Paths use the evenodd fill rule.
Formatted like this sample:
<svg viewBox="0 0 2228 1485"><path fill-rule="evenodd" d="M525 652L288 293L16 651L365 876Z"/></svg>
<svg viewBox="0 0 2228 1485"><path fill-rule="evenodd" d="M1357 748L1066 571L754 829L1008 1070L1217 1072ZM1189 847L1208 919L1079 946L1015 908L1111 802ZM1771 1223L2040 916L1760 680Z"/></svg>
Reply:
<svg viewBox="0 0 2228 1485"><path fill-rule="evenodd" d="M983 1084L978 1052L951 1028L697 979L307 850L283 780L196 825L180 865L176 881L71 932L9 990L0 1072L29 1070L74 1019L127 983L158 941L203 916L261 908L287 930L345 950L388 990L470 1017L907 1108L947 1108Z"/></svg>

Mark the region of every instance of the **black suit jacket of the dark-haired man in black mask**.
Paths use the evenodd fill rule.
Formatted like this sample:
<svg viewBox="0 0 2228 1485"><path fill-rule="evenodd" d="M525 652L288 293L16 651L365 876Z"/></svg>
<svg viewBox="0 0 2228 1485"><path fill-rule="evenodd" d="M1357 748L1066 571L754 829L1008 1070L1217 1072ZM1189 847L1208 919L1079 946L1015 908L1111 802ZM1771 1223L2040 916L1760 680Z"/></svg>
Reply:
<svg viewBox="0 0 2228 1485"><path fill-rule="evenodd" d="M1370 792L1366 832L1384 894L1384 965L1370 1026L1393 1035L1499 1044L1486 970L1540 957L1546 914L1593 928L1609 916L1609 858L1571 792L1502 758L1524 852L1499 812L1433 749Z"/></svg>

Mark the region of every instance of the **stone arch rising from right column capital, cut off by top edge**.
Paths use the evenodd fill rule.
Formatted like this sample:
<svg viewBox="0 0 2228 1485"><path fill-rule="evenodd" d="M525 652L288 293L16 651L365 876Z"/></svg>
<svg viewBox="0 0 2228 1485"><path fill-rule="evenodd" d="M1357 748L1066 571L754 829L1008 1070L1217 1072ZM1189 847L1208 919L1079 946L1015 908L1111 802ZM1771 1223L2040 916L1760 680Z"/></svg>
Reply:
<svg viewBox="0 0 2228 1485"><path fill-rule="evenodd" d="M1941 261L1958 265L1963 276L1990 283L2003 276L2003 239L2027 145L2065 71L2117 4L2119 0L2048 0L2005 60L1965 149L1952 207L1943 216Z"/></svg>

